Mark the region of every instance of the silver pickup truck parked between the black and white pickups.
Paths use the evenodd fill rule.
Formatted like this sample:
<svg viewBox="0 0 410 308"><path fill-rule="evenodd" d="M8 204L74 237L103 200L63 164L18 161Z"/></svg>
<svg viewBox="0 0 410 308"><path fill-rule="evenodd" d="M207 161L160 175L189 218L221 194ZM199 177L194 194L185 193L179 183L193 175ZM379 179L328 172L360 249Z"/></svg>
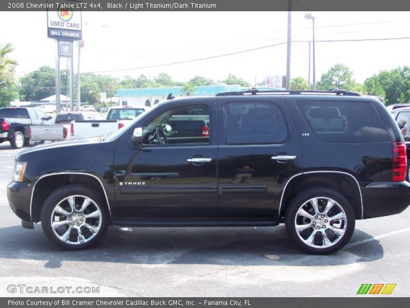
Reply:
<svg viewBox="0 0 410 308"><path fill-rule="evenodd" d="M60 112L54 119L53 125L47 126L32 126L29 129L29 136L31 141L61 141L74 138L71 133L73 126L72 121L87 120L87 121L103 121L104 115L96 112ZM106 122L106 121L104 121ZM108 125L108 124L107 124ZM94 130L92 134L96 137L105 134L106 124L98 125L98 129ZM77 127L77 130L79 128ZM77 136L78 137L78 136Z"/></svg>

